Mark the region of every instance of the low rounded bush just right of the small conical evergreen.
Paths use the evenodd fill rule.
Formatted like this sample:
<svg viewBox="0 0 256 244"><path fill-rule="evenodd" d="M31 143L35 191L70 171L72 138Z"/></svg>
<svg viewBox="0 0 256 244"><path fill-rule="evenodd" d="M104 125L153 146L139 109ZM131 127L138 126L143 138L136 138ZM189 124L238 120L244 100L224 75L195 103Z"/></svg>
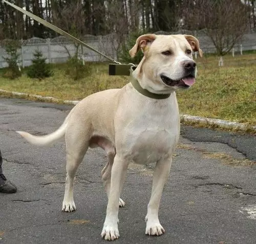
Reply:
<svg viewBox="0 0 256 244"><path fill-rule="evenodd" d="M89 65L84 65L82 60L74 56L69 58L67 62L66 74L73 80L79 80L91 74L91 67Z"/></svg>

